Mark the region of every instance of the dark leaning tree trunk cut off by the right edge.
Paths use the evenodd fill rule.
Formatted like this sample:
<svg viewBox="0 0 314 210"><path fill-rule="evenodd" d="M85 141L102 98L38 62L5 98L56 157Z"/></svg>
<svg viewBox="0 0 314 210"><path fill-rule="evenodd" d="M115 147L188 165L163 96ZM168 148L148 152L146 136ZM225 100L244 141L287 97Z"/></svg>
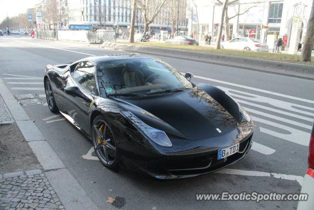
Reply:
<svg viewBox="0 0 314 210"><path fill-rule="evenodd" d="M307 28L301 54L301 61L303 62L311 62L312 45L314 40L314 0L312 2L312 10Z"/></svg>

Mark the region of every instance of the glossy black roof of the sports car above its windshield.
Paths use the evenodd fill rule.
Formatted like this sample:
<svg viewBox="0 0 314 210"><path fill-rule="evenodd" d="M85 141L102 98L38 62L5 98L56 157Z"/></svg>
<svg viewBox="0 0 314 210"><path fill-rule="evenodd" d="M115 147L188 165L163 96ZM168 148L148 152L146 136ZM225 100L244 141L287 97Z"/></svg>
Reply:
<svg viewBox="0 0 314 210"><path fill-rule="evenodd" d="M111 55L103 55L103 56L91 56L76 62L80 61L91 61L94 64L104 61L112 61L112 60L130 60L130 59L152 59L150 56L140 55L136 53L129 53L129 54L111 54Z"/></svg>

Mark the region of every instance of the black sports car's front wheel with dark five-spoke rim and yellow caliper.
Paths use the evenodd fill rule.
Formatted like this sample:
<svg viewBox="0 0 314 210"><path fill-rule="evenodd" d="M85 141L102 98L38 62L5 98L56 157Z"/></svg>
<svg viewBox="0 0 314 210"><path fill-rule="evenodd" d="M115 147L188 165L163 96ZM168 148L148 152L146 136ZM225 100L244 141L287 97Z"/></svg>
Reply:
<svg viewBox="0 0 314 210"><path fill-rule="evenodd" d="M104 131L105 136L103 136ZM104 116L99 115L94 119L91 127L91 139L101 163L109 169L118 171L121 158L114 136Z"/></svg>

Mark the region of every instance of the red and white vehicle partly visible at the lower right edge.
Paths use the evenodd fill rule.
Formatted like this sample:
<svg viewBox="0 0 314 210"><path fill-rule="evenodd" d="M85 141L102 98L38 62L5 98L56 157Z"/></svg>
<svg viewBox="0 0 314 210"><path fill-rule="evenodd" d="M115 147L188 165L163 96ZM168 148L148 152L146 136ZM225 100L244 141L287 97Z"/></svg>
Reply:
<svg viewBox="0 0 314 210"><path fill-rule="evenodd" d="M309 197L307 201L299 201L298 210L314 209L314 124L310 137L308 163L309 168L304 176L301 193L307 193Z"/></svg>

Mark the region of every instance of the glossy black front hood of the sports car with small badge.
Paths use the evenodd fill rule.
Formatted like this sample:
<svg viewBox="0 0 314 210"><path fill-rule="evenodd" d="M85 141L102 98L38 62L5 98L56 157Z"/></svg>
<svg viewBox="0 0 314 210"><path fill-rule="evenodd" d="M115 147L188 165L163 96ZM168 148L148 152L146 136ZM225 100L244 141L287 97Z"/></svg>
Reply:
<svg viewBox="0 0 314 210"><path fill-rule="evenodd" d="M200 89L115 100L146 124L189 140L217 137L238 126L231 114Z"/></svg>

